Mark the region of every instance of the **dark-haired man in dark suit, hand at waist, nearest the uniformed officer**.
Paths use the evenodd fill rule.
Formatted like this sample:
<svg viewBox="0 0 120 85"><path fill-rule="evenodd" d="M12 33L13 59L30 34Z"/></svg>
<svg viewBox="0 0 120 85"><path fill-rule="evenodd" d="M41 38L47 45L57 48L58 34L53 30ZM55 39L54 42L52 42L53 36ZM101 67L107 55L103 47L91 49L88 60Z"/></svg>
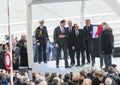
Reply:
<svg viewBox="0 0 120 85"><path fill-rule="evenodd" d="M68 31L65 28L66 21L61 20L60 26L57 26L54 30L54 42L56 46L56 67L59 68L59 57L61 53L61 49L64 53L64 60L65 60L65 68L69 68L68 60L67 60L67 37L68 37Z"/></svg>

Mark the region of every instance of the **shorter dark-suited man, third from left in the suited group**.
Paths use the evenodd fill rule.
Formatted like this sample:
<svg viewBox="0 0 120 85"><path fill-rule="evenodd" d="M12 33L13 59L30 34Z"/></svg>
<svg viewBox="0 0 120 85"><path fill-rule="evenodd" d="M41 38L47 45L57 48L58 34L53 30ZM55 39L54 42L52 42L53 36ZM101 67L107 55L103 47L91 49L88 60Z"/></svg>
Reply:
<svg viewBox="0 0 120 85"><path fill-rule="evenodd" d="M78 24L74 24L74 48L76 52L77 65L80 66L80 53L82 55L81 66L85 65L85 39L84 39L84 30L79 29Z"/></svg>

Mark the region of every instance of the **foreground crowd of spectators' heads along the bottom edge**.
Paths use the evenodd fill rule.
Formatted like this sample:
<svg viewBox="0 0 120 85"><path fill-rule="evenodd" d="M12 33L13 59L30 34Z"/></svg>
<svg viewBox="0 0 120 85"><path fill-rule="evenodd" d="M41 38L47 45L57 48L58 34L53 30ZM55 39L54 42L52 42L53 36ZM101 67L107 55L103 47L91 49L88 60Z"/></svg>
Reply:
<svg viewBox="0 0 120 85"><path fill-rule="evenodd" d="M20 74L13 71L14 85L120 85L120 73L117 65L109 66L108 71L96 69L81 70L64 74L49 73L41 74L32 72L32 79L27 73ZM10 74L0 70L0 85L10 85Z"/></svg>

